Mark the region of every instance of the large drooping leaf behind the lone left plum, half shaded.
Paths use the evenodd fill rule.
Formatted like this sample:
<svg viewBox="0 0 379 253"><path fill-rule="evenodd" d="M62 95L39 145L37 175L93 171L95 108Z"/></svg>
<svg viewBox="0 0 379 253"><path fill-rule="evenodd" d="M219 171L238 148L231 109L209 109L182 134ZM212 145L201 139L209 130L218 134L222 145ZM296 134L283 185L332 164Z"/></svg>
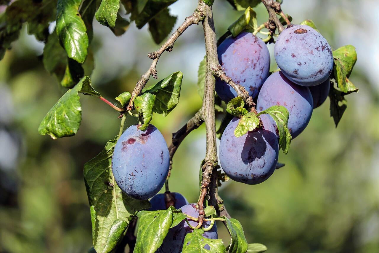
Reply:
<svg viewBox="0 0 379 253"><path fill-rule="evenodd" d="M96 252L108 252L105 247L111 247L121 239L120 229L124 227L124 222L136 211L150 207L148 201L129 198L114 182L111 160L116 142L117 136L106 143L99 155L84 164L83 174L91 206L92 240ZM118 221L119 226L117 220L121 220Z"/></svg>

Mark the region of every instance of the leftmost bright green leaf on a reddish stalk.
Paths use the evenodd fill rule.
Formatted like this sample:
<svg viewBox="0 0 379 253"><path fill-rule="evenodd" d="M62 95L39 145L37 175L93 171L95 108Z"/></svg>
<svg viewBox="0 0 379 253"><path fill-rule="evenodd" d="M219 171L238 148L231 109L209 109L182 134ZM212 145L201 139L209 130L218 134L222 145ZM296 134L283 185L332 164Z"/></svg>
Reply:
<svg viewBox="0 0 379 253"><path fill-rule="evenodd" d="M83 77L73 89L67 90L50 111L47 112L38 127L39 134L49 134L53 139L76 134L81 122L79 93L100 96L92 88L89 77Z"/></svg>

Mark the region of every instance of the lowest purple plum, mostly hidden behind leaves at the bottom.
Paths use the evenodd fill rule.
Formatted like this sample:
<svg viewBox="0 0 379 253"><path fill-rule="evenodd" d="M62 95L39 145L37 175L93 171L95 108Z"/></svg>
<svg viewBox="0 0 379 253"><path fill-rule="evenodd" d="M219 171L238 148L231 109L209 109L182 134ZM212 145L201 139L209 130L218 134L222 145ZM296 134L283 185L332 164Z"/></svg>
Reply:
<svg viewBox="0 0 379 253"><path fill-rule="evenodd" d="M182 206L182 212L192 216L192 217L199 217L199 209L196 207L197 204L187 204L185 206ZM199 222L193 221L191 219L188 219L188 223L191 224L191 226L196 227ZM210 226L210 221L204 221L203 222L203 228L208 228ZM170 228L168 231L166 237L163 240L163 243L160 248L158 248L157 252L160 253L179 253L182 251L183 248L183 242L184 237L186 234L193 232L193 229L191 229L187 222L185 220L182 220L178 225L176 225L174 228ZM203 236L208 239L218 239L217 234L217 226L216 223L213 224L213 227L209 231L205 231ZM208 245L205 245L204 248L207 250L210 250L210 247Z"/></svg>

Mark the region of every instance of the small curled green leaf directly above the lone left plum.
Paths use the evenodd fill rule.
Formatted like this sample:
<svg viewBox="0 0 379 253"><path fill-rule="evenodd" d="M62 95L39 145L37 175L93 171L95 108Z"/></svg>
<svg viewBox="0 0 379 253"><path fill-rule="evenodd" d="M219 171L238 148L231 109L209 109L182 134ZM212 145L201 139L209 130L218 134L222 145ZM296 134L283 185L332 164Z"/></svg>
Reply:
<svg viewBox="0 0 379 253"><path fill-rule="evenodd" d="M143 118L143 124L139 128L145 131L149 126L150 120L153 117L153 107L155 102L155 95L151 93L144 93L134 99L134 107L136 108L140 117Z"/></svg>

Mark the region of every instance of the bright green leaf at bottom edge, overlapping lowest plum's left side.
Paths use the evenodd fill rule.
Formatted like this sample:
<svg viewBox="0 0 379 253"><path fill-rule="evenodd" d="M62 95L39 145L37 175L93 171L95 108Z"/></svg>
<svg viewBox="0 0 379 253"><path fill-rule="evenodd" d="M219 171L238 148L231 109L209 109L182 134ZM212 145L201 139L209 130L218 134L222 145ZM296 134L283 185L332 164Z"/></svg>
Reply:
<svg viewBox="0 0 379 253"><path fill-rule="evenodd" d="M155 252L172 225L172 208L137 213L139 226L134 253Z"/></svg>

